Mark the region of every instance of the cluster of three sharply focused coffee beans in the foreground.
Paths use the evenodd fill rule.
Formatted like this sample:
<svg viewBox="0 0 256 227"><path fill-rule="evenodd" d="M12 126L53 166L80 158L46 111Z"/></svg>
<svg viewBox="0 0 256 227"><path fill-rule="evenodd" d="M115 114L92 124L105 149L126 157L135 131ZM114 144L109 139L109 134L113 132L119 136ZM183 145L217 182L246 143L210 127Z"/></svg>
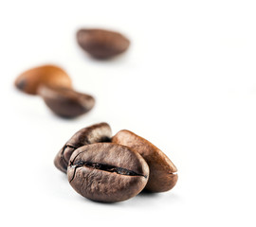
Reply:
<svg viewBox="0 0 256 227"><path fill-rule="evenodd" d="M107 123L77 131L54 164L67 173L79 194L92 201L125 201L143 189L171 190L177 182L176 167L160 149L132 131L112 137Z"/></svg>

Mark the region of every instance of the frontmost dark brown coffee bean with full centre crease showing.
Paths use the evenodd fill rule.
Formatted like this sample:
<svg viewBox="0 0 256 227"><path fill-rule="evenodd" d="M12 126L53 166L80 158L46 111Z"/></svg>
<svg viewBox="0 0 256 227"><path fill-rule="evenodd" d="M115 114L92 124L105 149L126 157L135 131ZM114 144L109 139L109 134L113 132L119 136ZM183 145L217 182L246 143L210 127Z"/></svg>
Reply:
<svg viewBox="0 0 256 227"><path fill-rule="evenodd" d="M112 143L85 145L72 154L67 168L71 186L92 201L125 201L146 185L149 167L131 148Z"/></svg>

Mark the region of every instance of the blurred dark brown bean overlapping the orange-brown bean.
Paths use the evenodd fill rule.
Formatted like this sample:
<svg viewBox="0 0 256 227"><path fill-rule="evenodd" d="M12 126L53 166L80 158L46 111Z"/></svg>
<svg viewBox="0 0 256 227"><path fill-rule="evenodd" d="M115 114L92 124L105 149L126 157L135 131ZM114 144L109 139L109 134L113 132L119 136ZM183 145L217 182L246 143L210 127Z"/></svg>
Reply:
<svg viewBox="0 0 256 227"><path fill-rule="evenodd" d="M72 89L40 86L38 94L46 105L57 115L66 118L76 117L89 112L95 104L93 96L75 92Z"/></svg>

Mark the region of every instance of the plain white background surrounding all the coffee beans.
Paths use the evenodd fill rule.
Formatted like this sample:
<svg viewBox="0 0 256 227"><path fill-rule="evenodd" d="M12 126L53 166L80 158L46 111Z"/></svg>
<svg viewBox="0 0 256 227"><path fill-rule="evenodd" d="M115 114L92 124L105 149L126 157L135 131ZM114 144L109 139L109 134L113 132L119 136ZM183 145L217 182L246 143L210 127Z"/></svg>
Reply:
<svg viewBox="0 0 256 227"><path fill-rule="evenodd" d="M1 226L255 226L256 5L247 0L0 2ZM81 27L118 30L128 52L95 61ZM97 98L74 120L13 80L60 65ZM76 131L101 121L161 148L173 190L88 201L53 166ZM2 225L4 223L4 225Z"/></svg>

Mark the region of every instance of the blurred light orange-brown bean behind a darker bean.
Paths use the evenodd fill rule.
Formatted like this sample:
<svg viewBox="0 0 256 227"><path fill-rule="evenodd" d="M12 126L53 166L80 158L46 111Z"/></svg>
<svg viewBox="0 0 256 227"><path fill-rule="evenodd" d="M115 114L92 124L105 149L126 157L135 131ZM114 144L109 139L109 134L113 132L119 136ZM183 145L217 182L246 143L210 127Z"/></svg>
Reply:
<svg viewBox="0 0 256 227"><path fill-rule="evenodd" d="M37 95L40 85L71 88L72 83L68 75L58 66L43 65L22 73L16 80L15 86L30 95Z"/></svg>

